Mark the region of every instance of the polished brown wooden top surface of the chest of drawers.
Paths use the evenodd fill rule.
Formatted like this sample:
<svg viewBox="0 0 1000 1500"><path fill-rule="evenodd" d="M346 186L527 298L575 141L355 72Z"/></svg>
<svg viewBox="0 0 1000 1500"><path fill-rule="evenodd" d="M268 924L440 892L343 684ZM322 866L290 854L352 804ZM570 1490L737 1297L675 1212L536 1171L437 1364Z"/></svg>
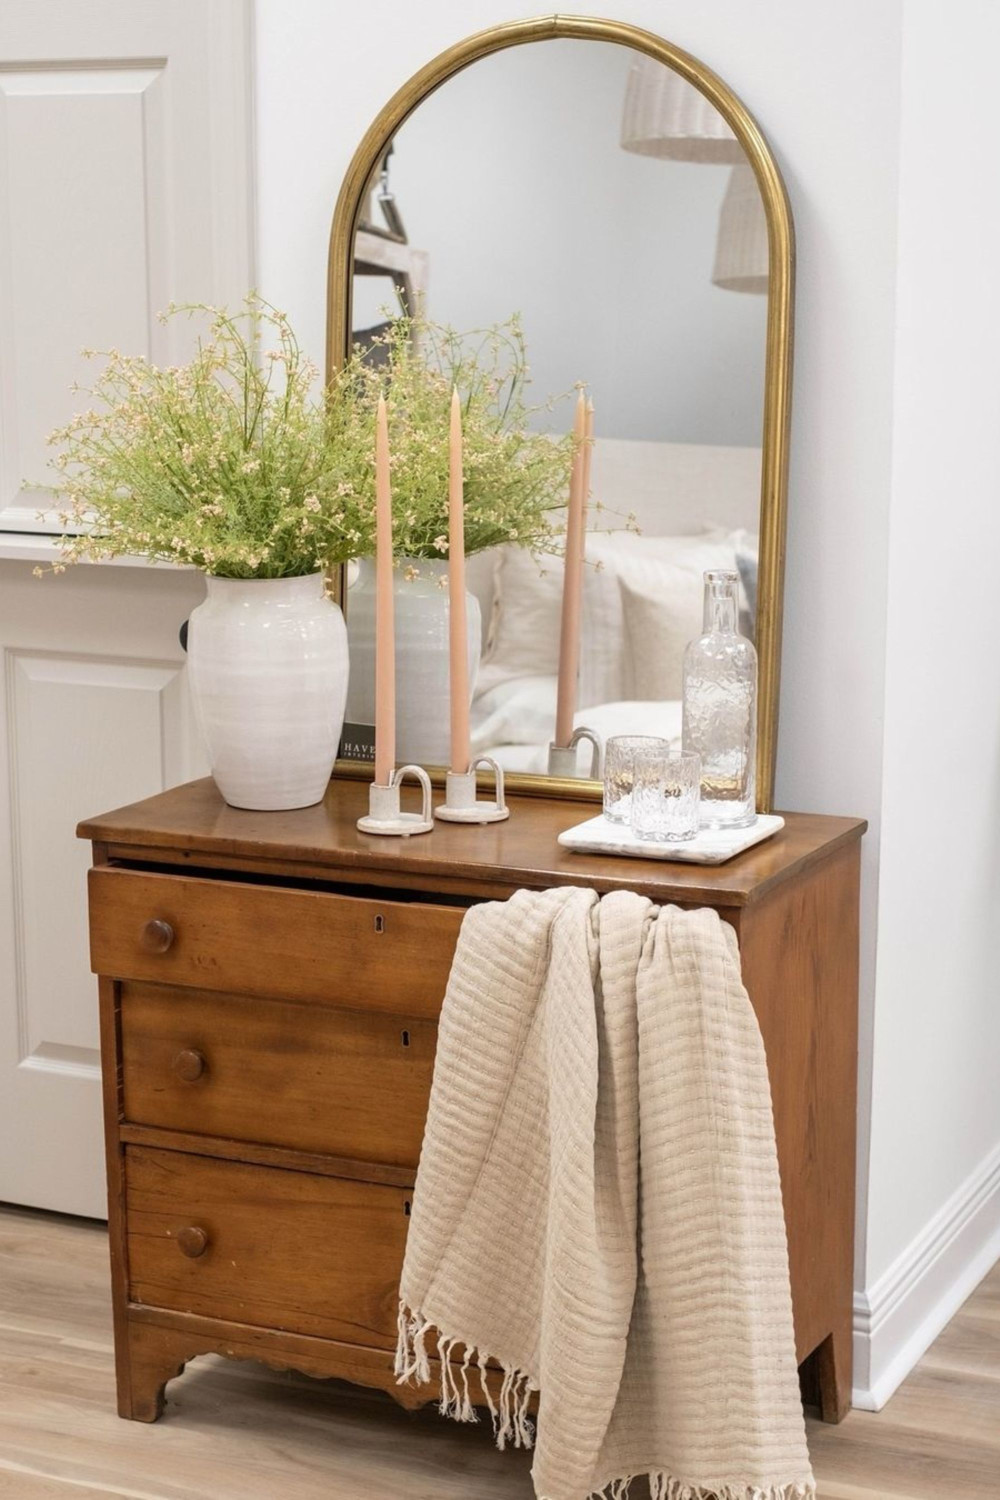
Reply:
<svg viewBox="0 0 1000 1500"><path fill-rule="evenodd" d="M411 838L361 834L367 783L334 778L322 802L288 813L228 807L211 778L85 819L78 834L112 860L246 868L318 880L505 896L519 886L630 888L655 902L744 906L855 843L856 818L786 813L786 826L727 864L694 866L562 849L558 834L592 818L592 802L511 796L508 822L436 825Z"/></svg>

